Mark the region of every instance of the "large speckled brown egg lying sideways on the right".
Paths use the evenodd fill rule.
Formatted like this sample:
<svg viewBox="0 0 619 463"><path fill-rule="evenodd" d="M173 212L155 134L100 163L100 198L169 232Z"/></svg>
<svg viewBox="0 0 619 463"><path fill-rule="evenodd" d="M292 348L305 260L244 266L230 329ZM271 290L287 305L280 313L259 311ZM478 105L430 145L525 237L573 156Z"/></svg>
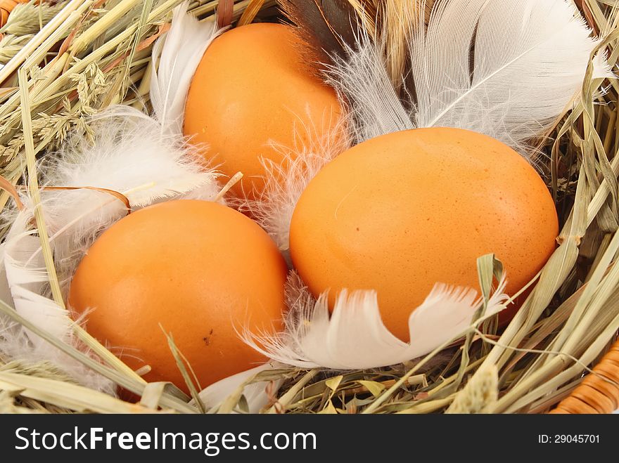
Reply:
<svg viewBox="0 0 619 463"><path fill-rule="evenodd" d="M385 325L407 320L436 282L478 289L495 253L513 294L544 266L559 226L542 178L508 146L461 129L390 133L337 157L294 211L290 249L314 294L376 289ZM437 327L440 329L440 327Z"/></svg>

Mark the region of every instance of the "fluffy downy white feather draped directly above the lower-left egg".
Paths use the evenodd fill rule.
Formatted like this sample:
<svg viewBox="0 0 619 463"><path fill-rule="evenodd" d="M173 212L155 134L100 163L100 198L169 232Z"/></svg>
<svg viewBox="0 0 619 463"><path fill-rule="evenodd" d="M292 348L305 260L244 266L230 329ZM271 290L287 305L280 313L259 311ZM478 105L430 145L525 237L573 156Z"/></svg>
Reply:
<svg viewBox="0 0 619 463"><path fill-rule="evenodd" d="M215 199L215 171L195 160L198 152L183 138L162 133L155 119L132 107L115 106L94 117L91 129L94 143L75 136L42 164L42 184L112 190L125 195L133 209L181 197ZM42 201L65 288L84 252L127 209L117 197L87 189L43 190ZM32 214L30 201L24 202L28 207L23 214Z"/></svg>

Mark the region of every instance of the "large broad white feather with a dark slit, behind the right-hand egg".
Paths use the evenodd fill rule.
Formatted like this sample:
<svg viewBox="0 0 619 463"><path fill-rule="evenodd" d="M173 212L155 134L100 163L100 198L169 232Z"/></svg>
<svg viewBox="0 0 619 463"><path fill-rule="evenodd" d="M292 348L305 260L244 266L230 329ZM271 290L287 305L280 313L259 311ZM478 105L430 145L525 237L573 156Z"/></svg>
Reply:
<svg viewBox="0 0 619 463"><path fill-rule="evenodd" d="M573 1L439 1L411 46L416 125L462 127L521 146L580 90L598 44L591 32ZM609 74L608 65L596 69Z"/></svg>

